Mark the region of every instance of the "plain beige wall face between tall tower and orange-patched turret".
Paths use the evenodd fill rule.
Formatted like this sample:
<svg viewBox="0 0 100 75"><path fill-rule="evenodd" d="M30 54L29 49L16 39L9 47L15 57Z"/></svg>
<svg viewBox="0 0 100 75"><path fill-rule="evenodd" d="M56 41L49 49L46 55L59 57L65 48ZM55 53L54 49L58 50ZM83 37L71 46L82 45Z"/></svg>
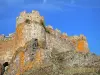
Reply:
<svg viewBox="0 0 100 75"><path fill-rule="evenodd" d="M75 50L68 39L61 39L60 37L48 33L46 33L46 47L49 50L55 48L58 52Z"/></svg>

